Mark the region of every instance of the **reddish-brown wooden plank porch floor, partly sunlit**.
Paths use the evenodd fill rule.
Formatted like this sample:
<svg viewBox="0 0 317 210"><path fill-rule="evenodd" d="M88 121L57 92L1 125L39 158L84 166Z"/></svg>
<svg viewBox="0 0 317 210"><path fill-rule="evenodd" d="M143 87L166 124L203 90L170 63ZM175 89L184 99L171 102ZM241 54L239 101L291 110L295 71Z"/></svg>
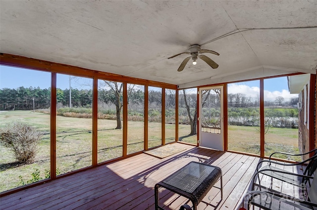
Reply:
<svg viewBox="0 0 317 210"><path fill-rule="evenodd" d="M154 210L154 185L190 161L222 169L223 200L219 203L219 189L212 188L204 201L217 205L217 210L238 209L260 158L184 144L179 147L186 150L163 159L137 155L4 196L0 209ZM215 186L220 187L220 181ZM187 202L162 188L159 197L159 205L166 210L178 210ZM213 209L204 203L198 206L198 210Z"/></svg>

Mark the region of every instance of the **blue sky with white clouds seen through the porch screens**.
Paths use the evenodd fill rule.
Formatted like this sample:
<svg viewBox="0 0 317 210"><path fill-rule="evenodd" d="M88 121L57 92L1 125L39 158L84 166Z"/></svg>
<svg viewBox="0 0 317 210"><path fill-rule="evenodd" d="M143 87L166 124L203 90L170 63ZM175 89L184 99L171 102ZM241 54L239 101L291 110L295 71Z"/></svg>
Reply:
<svg viewBox="0 0 317 210"><path fill-rule="evenodd" d="M93 80L82 77L70 77L72 88L91 89ZM18 87L40 87L41 89L51 86L51 73L30 69L21 69L0 65L0 89ZM57 74L57 88L69 89L69 75ZM154 88L152 88L154 89ZM258 98L260 93L260 81L237 82L228 85L228 94L244 93L247 97ZM283 97L285 100L298 97L297 94L290 94L288 91L287 77L278 77L264 80L264 100L274 100L276 97Z"/></svg>

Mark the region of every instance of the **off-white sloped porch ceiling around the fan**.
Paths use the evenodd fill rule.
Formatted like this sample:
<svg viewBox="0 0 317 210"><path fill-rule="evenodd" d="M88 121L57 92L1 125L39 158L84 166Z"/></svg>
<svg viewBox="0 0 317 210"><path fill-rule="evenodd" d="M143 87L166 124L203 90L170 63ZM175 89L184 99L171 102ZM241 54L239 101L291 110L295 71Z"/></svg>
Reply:
<svg viewBox="0 0 317 210"><path fill-rule="evenodd" d="M194 44L199 59L177 71ZM179 85L316 73L316 0L1 0L0 52Z"/></svg>

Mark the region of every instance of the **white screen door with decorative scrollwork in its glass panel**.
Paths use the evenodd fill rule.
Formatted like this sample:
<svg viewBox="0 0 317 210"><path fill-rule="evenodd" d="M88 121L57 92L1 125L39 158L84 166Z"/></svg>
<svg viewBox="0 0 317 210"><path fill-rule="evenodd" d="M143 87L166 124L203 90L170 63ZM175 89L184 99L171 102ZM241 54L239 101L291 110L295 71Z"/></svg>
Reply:
<svg viewBox="0 0 317 210"><path fill-rule="evenodd" d="M199 144L223 151L223 86L200 88L199 96Z"/></svg>

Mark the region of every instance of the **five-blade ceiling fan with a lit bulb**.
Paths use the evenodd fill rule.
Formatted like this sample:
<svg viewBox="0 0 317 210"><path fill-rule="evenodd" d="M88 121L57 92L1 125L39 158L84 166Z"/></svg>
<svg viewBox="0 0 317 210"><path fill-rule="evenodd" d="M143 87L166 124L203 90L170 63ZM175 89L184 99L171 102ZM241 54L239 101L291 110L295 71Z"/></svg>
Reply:
<svg viewBox="0 0 317 210"><path fill-rule="evenodd" d="M182 52L182 53L178 53L178 54L175 54L173 56L170 56L168 57L167 59L169 58L173 58L173 57L176 57L180 54L183 54L183 53L186 53L186 54L190 54L191 56L190 57L186 57L183 62L180 64L179 68L177 69L177 71L182 71L185 66L186 66L186 63L190 60L190 58L193 59L193 65L196 65L197 64L197 59L200 58L202 60L204 60L208 65L211 66L211 68L218 68L218 64L216 62L214 62L213 60L211 60L211 58L207 57L206 55L203 55L201 53L205 53L205 52L209 52L209 53L212 53L212 54L216 54L216 55L219 55L218 52L214 52L214 51L210 51L210 50L202 50L200 48L200 45L192 45L188 48L188 51L189 52Z"/></svg>

